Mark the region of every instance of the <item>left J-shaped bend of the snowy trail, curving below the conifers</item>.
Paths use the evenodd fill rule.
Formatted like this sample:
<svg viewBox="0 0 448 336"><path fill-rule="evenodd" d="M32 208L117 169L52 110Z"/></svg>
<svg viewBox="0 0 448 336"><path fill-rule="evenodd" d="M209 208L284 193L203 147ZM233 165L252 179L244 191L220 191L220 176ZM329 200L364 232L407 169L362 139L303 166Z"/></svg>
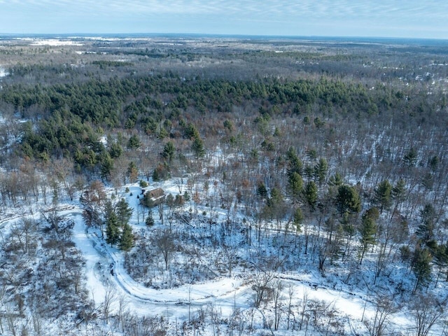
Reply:
<svg viewBox="0 0 448 336"><path fill-rule="evenodd" d="M75 222L73 241L86 260L87 288L92 291L95 300L102 300L106 295L108 283L120 289L134 302L165 306L202 305L211 301L219 301L220 304L233 306L235 298L244 296L248 290L246 286L241 285L241 280L228 278L161 290L147 288L127 274L123 265L123 253L106 246L103 239L86 230L81 209L72 209L65 215ZM110 265L113 265L113 275L110 272ZM239 300L238 306L248 307L246 304L241 304L241 300Z"/></svg>

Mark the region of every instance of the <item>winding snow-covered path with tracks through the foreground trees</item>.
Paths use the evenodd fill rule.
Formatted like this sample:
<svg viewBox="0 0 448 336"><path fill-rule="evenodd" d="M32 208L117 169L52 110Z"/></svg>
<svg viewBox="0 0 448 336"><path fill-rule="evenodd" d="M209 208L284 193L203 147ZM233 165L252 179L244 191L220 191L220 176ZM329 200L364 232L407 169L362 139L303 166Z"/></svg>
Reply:
<svg viewBox="0 0 448 336"><path fill-rule="evenodd" d="M200 307L212 302L223 311L227 310L228 314L231 314L235 306L243 309L250 307L252 290L237 279L224 278L162 290L146 288L127 274L123 266L122 252L106 246L101 238L85 230L80 209L67 211L66 216L75 221L73 241L86 260L87 288L91 290L97 302L103 300L106 291L112 286L120 295L127 297L127 302L134 311L139 311L141 314L148 312L167 314L171 309L170 315L182 318L188 314L189 306ZM113 275L109 268L112 264ZM295 286L296 293L306 291L310 299L333 302L340 311L355 319L361 318L363 309L360 307L363 307L364 300L360 297L321 286L313 290L312 281L298 279L296 276L280 276L280 278L286 286L289 283ZM369 310L367 308L367 314L370 314Z"/></svg>

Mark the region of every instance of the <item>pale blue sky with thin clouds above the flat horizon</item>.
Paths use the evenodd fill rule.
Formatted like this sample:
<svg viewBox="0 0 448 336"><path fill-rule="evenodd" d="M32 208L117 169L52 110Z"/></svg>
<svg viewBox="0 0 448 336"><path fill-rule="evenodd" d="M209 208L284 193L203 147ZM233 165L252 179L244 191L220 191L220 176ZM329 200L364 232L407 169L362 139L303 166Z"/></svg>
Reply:
<svg viewBox="0 0 448 336"><path fill-rule="evenodd" d="M448 38L447 0L0 0L0 34Z"/></svg>

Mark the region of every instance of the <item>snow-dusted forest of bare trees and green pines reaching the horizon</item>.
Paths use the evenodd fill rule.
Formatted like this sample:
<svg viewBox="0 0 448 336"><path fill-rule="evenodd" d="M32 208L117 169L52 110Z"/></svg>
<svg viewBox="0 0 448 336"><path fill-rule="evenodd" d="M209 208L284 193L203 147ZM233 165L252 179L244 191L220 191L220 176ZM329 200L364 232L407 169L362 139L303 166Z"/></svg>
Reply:
<svg viewBox="0 0 448 336"><path fill-rule="evenodd" d="M159 40L2 40L0 333L447 335L447 48ZM142 286L251 298L179 323L95 302L69 208Z"/></svg>

